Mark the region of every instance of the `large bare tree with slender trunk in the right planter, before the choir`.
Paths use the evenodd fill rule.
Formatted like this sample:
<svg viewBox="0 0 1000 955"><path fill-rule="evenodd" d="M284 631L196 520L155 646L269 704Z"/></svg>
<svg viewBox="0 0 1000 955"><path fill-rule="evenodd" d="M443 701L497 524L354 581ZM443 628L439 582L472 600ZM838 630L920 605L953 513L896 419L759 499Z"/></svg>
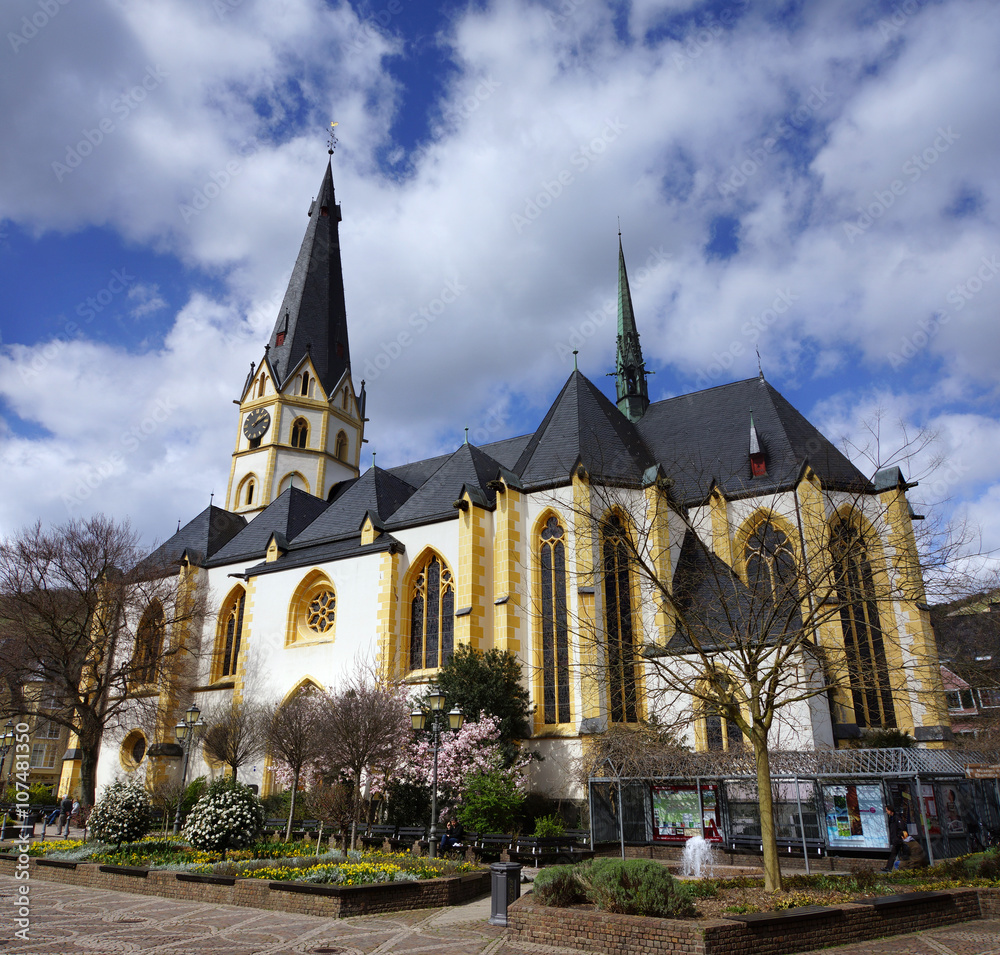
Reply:
<svg viewBox="0 0 1000 955"><path fill-rule="evenodd" d="M811 701L826 697L837 725L894 727L903 700L924 723L947 724L921 558L944 580L957 544L912 532L897 461L870 479L838 464L826 485L808 466L754 485L717 470L692 481L681 462L683 489L662 469L641 486L578 475L576 584L601 600L587 610L582 598L570 625L581 677L609 724L655 715L696 725L703 748L749 746L769 891L781 888L770 753L805 725ZM897 626L909 614L916 625Z"/></svg>

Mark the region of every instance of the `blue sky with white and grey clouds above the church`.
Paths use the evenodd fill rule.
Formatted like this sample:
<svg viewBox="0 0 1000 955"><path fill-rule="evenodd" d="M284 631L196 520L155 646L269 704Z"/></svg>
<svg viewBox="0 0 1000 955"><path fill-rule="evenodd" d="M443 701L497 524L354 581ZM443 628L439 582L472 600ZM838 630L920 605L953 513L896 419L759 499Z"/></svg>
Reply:
<svg viewBox="0 0 1000 955"><path fill-rule="evenodd" d="M654 400L759 349L834 440L930 429L912 495L1000 546L992 0L8 0L0 26L3 533L103 510L153 541L225 494L337 120L380 465L533 429L574 348L610 390L620 218Z"/></svg>

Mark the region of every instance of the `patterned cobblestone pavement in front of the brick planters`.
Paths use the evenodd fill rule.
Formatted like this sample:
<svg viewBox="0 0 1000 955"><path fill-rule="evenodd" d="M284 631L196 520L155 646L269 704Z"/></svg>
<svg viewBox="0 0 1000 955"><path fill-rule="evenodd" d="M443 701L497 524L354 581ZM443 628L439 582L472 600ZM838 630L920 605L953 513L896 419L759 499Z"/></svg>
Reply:
<svg viewBox="0 0 1000 955"><path fill-rule="evenodd" d="M31 883L27 941L14 937L17 883L0 876L0 953L23 955L570 955L505 938L489 900L352 919L160 899L56 882ZM823 955L1000 955L1000 921L823 949ZM809 953L813 955L813 953Z"/></svg>

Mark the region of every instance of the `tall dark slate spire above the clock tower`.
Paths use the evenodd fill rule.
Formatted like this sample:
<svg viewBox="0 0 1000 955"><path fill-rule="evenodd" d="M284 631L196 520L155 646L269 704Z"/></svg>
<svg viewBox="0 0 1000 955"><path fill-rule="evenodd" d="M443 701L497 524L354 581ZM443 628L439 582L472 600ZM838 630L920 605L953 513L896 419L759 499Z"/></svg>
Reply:
<svg viewBox="0 0 1000 955"><path fill-rule="evenodd" d="M340 206L327 163L319 194L309 208L309 225L271 332L268 360L279 385L308 352L323 390L329 394L350 368L344 274L340 264Z"/></svg>

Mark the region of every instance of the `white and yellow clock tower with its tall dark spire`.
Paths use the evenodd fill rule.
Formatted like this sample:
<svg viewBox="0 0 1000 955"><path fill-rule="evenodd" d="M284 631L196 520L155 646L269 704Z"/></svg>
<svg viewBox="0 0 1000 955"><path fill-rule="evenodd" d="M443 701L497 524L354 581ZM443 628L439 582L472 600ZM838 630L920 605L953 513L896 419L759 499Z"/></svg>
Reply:
<svg viewBox="0 0 1000 955"><path fill-rule="evenodd" d="M227 510L252 516L289 487L326 498L359 474L365 393L351 380L340 220L327 163L271 338L243 384Z"/></svg>

